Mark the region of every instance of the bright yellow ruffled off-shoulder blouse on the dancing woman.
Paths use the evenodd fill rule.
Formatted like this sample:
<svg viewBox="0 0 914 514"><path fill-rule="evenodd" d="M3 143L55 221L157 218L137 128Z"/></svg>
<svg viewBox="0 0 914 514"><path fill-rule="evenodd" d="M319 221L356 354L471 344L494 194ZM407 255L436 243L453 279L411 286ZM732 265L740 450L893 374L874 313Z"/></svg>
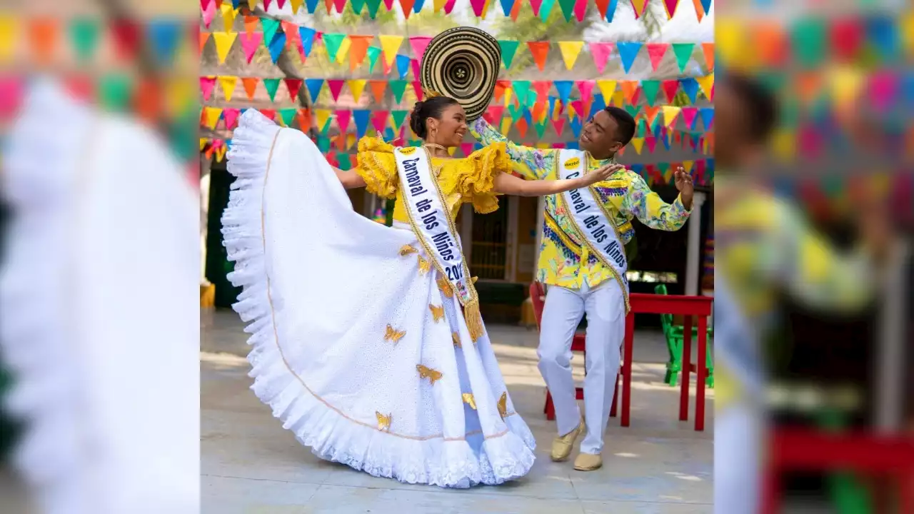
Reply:
<svg viewBox="0 0 914 514"><path fill-rule="evenodd" d="M432 157L431 166L433 170L440 169L438 186L454 217L464 203L473 203L473 209L480 214L498 209L495 177L499 173L511 173L511 159L504 143L486 146L461 159ZM374 137L360 139L356 173L365 180L368 192L383 198L397 198L394 220L409 223L393 145Z"/></svg>

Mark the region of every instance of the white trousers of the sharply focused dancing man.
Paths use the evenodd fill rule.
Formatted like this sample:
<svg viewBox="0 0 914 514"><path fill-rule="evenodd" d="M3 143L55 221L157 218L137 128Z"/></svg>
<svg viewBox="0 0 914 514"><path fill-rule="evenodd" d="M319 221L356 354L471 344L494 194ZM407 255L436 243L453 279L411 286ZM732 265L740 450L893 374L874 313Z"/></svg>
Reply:
<svg viewBox="0 0 914 514"><path fill-rule="evenodd" d="M539 372L556 407L558 434L568 434L580 423L571 377L571 340L580 318L587 314L587 342L584 379L584 419L587 434L580 444L586 454L600 454L603 432L609 422L616 374L622 359L625 337L625 300L615 280L590 289L550 285L539 330Z"/></svg>

